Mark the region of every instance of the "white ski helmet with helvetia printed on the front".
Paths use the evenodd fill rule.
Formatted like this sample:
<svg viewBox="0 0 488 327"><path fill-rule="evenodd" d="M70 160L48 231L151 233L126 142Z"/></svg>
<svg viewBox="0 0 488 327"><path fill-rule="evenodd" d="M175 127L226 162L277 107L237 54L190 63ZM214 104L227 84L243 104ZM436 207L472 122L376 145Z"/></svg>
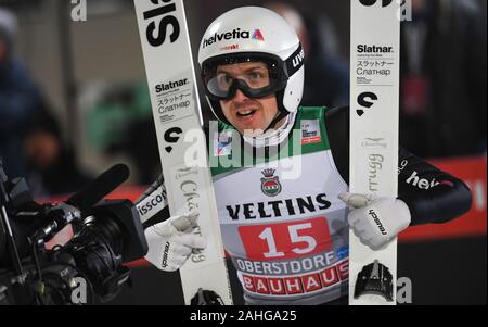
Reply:
<svg viewBox="0 0 488 327"><path fill-rule="evenodd" d="M293 27L271 10L242 7L220 15L208 26L198 51L205 93L215 116L229 124L219 100L233 98L237 89L251 98L277 93L280 114L268 128L295 113L304 90L304 56ZM218 65L252 61L267 64L266 85L236 78L222 87L217 80Z"/></svg>

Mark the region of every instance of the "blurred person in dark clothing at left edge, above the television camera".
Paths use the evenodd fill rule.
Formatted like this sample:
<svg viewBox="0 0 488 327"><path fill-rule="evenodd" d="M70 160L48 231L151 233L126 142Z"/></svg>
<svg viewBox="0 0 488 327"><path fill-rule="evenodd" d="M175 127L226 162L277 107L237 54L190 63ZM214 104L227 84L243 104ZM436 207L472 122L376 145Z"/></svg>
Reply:
<svg viewBox="0 0 488 327"><path fill-rule="evenodd" d="M26 177L33 196L79 190L91 176L63 141L56 117L25 66L15 59L15 15L0 9L0 158L9 177Z"/></svg>

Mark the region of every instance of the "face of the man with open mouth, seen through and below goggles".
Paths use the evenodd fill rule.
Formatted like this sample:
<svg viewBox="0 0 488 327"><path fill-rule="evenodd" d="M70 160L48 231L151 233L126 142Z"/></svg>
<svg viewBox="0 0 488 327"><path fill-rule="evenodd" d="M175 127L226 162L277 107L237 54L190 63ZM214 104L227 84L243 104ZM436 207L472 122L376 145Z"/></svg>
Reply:
<svg viewBox="0 0 488 327"><path fill-rule="evenodd" d="M228 87L235 78L243 79L251 88L260 88L269 84L268 67L261 62L220 65L217 67L217 78L222 87ZM220 105L226 118L241 134L246 129L265 130L278 114L274 93L253 99L237 89L232 99L221 100Z"/></svg>

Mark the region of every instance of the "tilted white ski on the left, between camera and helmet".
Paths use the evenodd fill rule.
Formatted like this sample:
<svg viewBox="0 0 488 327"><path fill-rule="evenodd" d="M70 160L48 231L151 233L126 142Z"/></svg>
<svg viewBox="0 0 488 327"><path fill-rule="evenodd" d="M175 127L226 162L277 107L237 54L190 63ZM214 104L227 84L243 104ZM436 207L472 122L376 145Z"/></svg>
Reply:
<svg viewBox="0 0 488 327"><path fill-rule="evenodd" d="M207 248L192 253L180 268L184 303L201 304L217 294L229 305L232 294L183 1L134 0L134 7L169 212L174 216L197 209L197 232L207 239Z"/></svg>

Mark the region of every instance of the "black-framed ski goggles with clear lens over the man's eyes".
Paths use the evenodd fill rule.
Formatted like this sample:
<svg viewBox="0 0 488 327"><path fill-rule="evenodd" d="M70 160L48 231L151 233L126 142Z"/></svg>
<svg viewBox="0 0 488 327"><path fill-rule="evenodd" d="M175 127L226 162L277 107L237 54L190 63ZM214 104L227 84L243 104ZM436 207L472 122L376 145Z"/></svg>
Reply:
<svg viewBox="0 0 488 327"><path fill-rule="evenodd" d="M202 64L202 79L213 100L230 100L241 90L249 98L262 98L286 87L283 61L268 53L224 54Z"/></svg>

